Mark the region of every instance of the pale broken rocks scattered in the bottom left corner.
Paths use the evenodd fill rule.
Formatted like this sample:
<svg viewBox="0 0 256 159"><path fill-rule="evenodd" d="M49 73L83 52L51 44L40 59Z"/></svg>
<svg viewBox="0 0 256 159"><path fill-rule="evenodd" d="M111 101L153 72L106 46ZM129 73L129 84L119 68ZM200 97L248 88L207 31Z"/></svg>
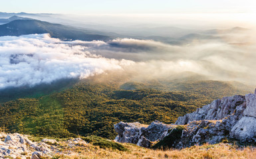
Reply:
<svg viewBox="0 0 256 159"><path fill-rule="evenodd" d="M27 135L23 134L5 134L0 133L0 158L52 158L57 152L60 152L59 144L53 139L43 139L41 142L29 140ZM87 144L81 138L74 138L64 142L68 148L76 144Z"/></svg>

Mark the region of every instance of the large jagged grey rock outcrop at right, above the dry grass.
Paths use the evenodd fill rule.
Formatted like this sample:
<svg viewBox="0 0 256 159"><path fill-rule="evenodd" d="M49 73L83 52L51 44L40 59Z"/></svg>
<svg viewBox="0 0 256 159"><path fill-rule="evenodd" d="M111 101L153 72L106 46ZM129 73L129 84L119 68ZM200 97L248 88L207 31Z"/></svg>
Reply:
<svg viewBox="0 0 256 159"><path fill-rule="evenodd" d="M136 125L140 125L136 123ZM131 142L139 146L150 147L152 142L170 138L177 125L184 125L182 134L170 147L183 148L194 144L209 142L215 144L230 138L239 142L256 142L256 89L255 93L245 96L234 95L217 99L195 112L179 117L175 125L166 125L165 129L158 123L154 132L149 127L134 127L134 123L118 123L114 125L118 142ZM169 129L169 130L168 130ZM156 133L159 130L159 133ZM143 133L142 133L143 132ZM152 137L154 136L154 137ZM131 140L132 138L132 140ZM141 140L146 142L142 144ZM139 142L140 141L140 142Z"/></svg>

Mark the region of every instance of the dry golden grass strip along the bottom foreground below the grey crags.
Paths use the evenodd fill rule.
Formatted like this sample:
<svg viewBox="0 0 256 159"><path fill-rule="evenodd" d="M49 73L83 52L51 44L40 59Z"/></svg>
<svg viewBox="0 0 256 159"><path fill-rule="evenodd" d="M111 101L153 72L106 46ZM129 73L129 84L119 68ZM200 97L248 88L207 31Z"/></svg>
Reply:
<svg viewBox="0 0 256 159"><path fill-rule="evenodd" d="M64 148L61 154L57 154L56 158L69 159L154 159L154 158L255 158L256 149L252 147L238 148L230 144L204 144L203 146L192 146L191 148L184 148L182 150L151 150L142 148L134 144L124 144L129 151L119 151L111 149L102 149L98 146L86 144L84 146L77 146L72 148ZM72 152L68 154L67 152ZM66 156L68 154L68 156Z"/></svg>

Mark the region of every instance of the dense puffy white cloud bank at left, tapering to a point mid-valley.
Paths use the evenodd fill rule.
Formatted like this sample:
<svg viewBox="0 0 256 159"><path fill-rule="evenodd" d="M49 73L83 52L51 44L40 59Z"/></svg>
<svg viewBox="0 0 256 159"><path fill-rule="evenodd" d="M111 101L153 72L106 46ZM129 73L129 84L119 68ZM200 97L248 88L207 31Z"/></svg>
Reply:
<svg viewBox="0 0 256 159"><path fill-rule="evenodd" d="M87 78L133 63L102 58L84 49L48 34L0 37L0 88Z"/></svg>

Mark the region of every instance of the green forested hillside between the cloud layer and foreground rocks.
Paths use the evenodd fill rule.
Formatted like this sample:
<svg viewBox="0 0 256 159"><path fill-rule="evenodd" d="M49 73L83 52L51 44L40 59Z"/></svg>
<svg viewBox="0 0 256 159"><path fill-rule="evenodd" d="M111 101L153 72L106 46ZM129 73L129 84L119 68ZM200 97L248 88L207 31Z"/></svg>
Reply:
<svg viewBox="0 0 256 159"><path fill-rule="evenodd" d="M119 121L174 123L213 99L244 93L217 81L184 83L184 90L152 89L145 83L133 90L116 83L83 81L70 89L37 98L0 104L0 127L9 132L66 137L94 134L114 138ZM192 89L193 88L193 89ZM187 89L187 91L185 91ZM248 92L247 92L248 93Z"/></svg>

